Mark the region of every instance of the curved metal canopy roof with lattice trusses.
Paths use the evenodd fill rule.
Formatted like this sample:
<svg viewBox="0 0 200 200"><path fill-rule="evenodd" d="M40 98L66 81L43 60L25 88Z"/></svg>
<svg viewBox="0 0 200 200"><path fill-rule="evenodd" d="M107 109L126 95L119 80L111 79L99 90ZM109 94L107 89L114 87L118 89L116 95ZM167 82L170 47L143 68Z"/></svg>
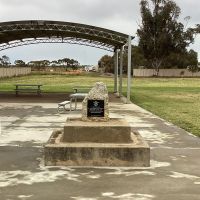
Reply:
<svg viewBox="0 0 200 200"><path fill-rule="evenodd" d="M0 23L0 51L37 43L71 43L113 51L125 45L127 39L126 34L79 23L42 20Z"/></svg>

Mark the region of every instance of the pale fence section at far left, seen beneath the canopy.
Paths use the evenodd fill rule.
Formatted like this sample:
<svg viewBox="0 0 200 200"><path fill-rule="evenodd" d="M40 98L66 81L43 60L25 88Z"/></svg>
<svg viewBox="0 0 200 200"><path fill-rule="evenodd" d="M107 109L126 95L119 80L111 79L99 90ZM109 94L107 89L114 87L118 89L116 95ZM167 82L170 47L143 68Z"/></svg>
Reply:
<svg viewBox="0 0 200 200"><path fill-rule="evenodd" d="M0 78L27 75L30 73L30 67L0 67Z"/></svg>

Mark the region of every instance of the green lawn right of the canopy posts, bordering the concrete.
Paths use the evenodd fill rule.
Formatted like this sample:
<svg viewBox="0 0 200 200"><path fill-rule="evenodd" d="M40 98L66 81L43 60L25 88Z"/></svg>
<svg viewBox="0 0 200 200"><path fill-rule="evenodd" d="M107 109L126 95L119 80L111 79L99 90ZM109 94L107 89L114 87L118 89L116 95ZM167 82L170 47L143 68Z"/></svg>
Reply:
<svg viewBox="0 0 200 200"><path fill-rule="evenodd" d="M135 79L132 101L200 136L200 79Z"/></svg>

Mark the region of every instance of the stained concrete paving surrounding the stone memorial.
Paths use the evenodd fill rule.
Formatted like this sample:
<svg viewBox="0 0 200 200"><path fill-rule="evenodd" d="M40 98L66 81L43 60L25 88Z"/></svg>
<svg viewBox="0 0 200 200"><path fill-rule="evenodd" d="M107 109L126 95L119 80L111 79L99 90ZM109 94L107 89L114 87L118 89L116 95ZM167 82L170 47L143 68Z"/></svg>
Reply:
<svg viewBox="0 0 200 200"><path fill-rule="evenodd" d="M56 103L0 103L1 200L200 200L200 139L134 104L111 103L151 147L149 168L44 167L43 144L67 116Z"/></svg>

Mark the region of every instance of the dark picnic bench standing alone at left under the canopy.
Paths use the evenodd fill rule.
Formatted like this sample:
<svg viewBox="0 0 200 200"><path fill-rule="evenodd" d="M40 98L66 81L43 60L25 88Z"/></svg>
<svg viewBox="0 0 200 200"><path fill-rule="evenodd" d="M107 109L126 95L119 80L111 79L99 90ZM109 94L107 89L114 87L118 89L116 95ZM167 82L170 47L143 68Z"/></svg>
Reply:
<svg viewBox="0 0 200 200"><path fill-rule="evenodd" d="M16 96L19 93L37 93L37 95L41 95L41 87L40 84L15 84L15 94Z"/></svg>

